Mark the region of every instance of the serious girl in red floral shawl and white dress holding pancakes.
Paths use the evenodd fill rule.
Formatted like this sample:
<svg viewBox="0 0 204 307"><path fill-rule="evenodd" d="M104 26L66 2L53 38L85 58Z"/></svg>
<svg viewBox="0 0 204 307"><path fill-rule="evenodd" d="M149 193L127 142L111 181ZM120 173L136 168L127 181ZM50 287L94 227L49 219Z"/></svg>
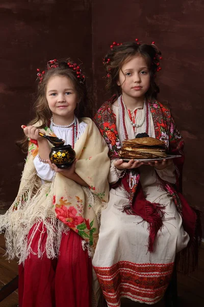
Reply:
<svg viewBox="0 0 204 307"><path fill-rule="evenodd" d="M197 215L181 194L184 141L170 109L156 100L161 59L154 42L141 45L138 39L113 42L104 58L108 89L117 95L94 117L109 146L112 188L101 213L93 266L109 307L119 307L122 297L158 302L176 253L190 244L197 248ZM122 141L143 133L165 141L167 152L181 158L149 163L119 159Z"/></svg>

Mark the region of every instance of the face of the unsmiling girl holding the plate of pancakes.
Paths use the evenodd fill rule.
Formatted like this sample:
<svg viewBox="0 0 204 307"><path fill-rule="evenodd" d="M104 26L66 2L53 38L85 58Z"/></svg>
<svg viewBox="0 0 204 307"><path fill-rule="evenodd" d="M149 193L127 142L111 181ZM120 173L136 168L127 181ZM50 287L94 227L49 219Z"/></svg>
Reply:
<svg viewBox="0 0 204 307"><path fill-rule="evenodd" d="M121 86L122 94L125 96L144 97L150 86L150 74L142 56L135 56L122 65L117 85Z"/></svg>

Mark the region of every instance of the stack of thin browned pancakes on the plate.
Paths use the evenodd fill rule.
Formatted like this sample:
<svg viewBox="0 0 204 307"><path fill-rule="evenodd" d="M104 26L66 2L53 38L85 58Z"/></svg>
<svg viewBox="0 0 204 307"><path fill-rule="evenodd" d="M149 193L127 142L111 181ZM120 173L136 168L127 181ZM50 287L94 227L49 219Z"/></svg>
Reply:
<svg viewBox="0 0 204 307"><path fill-rule="evenodd" d="M125 140L119 150L122 159L166 158L165 143L155 138L136 138Z"/></svg>

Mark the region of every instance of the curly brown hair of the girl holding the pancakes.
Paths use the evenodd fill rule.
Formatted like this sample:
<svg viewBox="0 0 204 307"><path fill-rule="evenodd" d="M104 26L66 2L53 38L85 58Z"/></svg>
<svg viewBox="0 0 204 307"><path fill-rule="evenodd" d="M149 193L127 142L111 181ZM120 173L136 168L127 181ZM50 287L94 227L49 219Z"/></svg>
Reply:
<svg viewBox="0 0 204 307"><path fill-rule="evenodd" d="M107 72L106 89L113 95L121 95L121 87L117 85L119 72L122 65L131 60L135 56L142 56L146 60L150 73L150 86L145 94L146 99L156 99L160 92L159 86L156 84L156 72L161 70L160 59L161 52L155 45L139 44L137 42L124 42L116 44L104 57L104 67Z"/></svg>

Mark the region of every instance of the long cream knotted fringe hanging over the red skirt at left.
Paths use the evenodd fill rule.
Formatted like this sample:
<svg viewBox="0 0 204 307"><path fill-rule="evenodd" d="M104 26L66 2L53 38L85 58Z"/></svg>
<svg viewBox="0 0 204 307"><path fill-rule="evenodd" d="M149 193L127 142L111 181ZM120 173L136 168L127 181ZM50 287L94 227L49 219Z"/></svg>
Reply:
<svg viewBox="0 0 204 307"><path fill-rule="evenodd" d="M6 256L8 259L17 257L19 264L24 263L30 253L33 253L31 244L33 237L38 231L40 223L46 228L47 240L43 250L38 242L38 257L46 252L48 258L55 258L59 254L62 232L67 232L69 228L60 222L53 211L53 184L41 184L41 180L36 179L33 173L27 178L27 184L19 190L18 195L9 210L0 216L0 233L5 231ZM24 180L24 178L23 178ZM34 194L33 191L36 191ZM36 204L46 198L46 207L39 206L36 210ZM28 233L35 225L30 239Z"/></svg>

